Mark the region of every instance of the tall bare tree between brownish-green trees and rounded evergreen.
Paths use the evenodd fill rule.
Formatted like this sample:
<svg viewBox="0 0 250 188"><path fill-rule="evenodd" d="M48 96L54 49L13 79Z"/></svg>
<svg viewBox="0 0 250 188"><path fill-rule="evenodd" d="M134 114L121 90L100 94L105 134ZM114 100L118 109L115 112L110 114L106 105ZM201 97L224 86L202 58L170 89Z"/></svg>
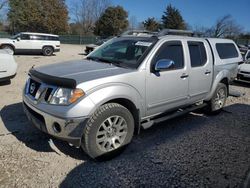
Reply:
<svg viewBox="0 0 250 188"><path fill-rule="evenodd" d="M95 22L110 4L110 0L75 0L71 11L75 22L81 25L83 34L93 32Z"/></svg>

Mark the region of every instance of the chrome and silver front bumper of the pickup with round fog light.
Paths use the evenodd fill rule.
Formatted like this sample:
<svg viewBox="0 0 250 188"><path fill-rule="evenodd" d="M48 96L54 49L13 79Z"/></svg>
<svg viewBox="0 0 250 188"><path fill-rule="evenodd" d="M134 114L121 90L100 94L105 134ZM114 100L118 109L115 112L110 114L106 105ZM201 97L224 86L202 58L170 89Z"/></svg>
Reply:
<svg viewBox="0 0 250 188"><path fill-rule="evenodd" d="M23 109L28 119L41 131L79 147L83 129L88 118L59 118L35 108L27 99L23 100Z"/></svg>

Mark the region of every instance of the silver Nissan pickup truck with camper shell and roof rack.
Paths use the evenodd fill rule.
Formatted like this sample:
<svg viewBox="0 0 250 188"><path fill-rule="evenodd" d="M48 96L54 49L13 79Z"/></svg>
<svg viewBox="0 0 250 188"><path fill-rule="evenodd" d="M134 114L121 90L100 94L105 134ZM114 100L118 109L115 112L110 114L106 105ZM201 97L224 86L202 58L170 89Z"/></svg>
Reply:
<svg viewBox="0 0 250 188"><path fill-rule="evenodd" d="M92 158L115 155L141 127L202 107L220 112L242 61L226 39L117 37L85 60L32 68L24 111Z"/></svg>

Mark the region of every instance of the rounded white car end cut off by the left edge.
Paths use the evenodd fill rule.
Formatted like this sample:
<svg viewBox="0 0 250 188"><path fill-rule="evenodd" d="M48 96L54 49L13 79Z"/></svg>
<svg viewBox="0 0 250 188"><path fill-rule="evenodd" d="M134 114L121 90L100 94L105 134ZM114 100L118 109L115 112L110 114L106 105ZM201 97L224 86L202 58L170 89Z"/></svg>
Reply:
<svg viewBox="0 0 250 188"><path fill-rule="evenodd" d="M0 50L0 82L14 78L16 70L17 64L11 51Z"/></svg>

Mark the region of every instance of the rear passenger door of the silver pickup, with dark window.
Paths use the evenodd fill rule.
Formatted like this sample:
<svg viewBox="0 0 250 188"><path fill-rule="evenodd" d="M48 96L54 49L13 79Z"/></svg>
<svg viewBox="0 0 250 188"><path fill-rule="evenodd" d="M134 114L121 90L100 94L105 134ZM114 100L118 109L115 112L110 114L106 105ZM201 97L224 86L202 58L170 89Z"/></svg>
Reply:
<svg viewBox="0 0 250 188"><path fill-rule="evenodd" d="M187 40L189 54L190 102L202 100L210 91L213 76L213 60L210 47L203 40Z"/></svg>

